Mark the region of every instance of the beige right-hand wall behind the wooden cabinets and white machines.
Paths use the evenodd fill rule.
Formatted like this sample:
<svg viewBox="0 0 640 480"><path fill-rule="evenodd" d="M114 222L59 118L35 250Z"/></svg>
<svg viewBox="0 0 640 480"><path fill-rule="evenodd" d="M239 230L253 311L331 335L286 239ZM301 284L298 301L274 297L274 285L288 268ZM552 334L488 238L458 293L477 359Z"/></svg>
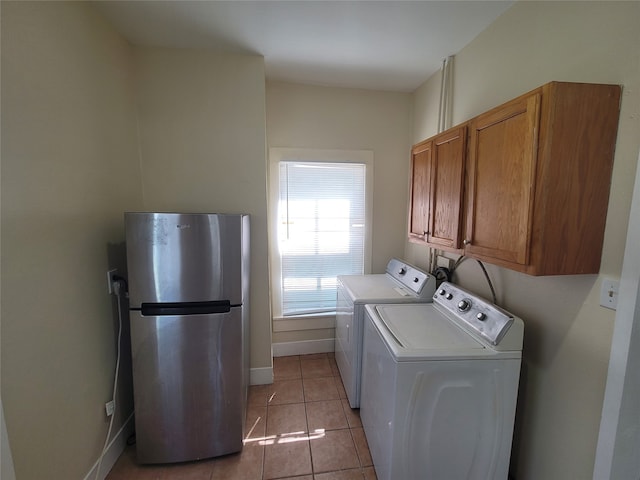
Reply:
<svg viewBox="0 0 640 480"><path fill-rule="evenodd" d="M603 276L620 276L640 148L638 19L638 2L521 1L455 58L454 124L552 80L624 85L601 274L531 277L487 265L498 303L525 321L517 480L592 477L614 321L599 290ZM439 84L437 74L415 92L414 143L436 133ZM425 248L407 243L406 252L426 263ZM473 260L454 281L490 296Z"/></svg>

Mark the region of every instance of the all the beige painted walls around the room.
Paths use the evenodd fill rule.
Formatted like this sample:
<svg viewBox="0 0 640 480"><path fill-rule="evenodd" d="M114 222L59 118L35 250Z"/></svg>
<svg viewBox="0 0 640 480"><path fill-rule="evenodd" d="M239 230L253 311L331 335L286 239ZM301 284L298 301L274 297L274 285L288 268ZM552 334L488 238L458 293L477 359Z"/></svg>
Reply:
<svg viewBox="0 0 640 480"><path fill-rule="evenodd" d="M454 123L549 80L624 84L602 264L614 277L639 147L639 5L517 3L454 67ZM102 448L116 333L104 277L124 268L125 210L252 215L252 367L271 365L266 114L269 146L373 150L373 270L403 248L425 265L425 249L405 242L408 154L435 133L438 75L413 97L281 83L265 93L259 57L134 50L86 3L1 8L0 353L17 478L82 478ZM516 478L590 478L614 317L598 306L601 277L488 268L527 325ZM488 294L475 262L456 279ZM116 429L132 409L126 375L121 391Z"/></svg>

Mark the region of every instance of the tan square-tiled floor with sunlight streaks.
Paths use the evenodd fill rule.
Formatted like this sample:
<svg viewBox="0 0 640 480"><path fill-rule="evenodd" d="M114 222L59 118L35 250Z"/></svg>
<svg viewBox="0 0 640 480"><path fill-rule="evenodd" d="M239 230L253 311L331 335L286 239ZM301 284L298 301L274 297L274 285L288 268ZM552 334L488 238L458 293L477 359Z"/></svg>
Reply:
<svg viewBox="0 0 640 480"><path fill-rule="evenodd" d="M241 453L178 465L138 465L135 446L107 480L374 480L358 410L332 353L276 357L274 383L249 389Z"/></svg>

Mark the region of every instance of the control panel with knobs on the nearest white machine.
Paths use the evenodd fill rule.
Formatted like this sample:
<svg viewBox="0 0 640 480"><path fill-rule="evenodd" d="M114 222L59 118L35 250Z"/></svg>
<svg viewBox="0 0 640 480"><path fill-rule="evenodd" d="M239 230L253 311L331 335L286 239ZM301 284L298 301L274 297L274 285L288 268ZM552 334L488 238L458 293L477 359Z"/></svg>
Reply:
<svg viewBox="0 0 640 480"><path fill-rule="evenodd" d="M463 328L498 345L513 323L514 316L497 305L457 285L443 282L433 295L433 303L452 316Z"/></svg>

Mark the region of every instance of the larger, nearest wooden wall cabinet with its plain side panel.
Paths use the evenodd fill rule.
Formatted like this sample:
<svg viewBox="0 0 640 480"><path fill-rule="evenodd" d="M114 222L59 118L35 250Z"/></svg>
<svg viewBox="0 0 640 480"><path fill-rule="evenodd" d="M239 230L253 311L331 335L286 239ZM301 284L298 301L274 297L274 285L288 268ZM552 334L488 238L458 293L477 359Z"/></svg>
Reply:
<svg viewBox="0 0 640 480"><path fill-rule="evenodd" d="M530 275L598 273L620 95L551 82L469 121L461 252Z"/></svg>

